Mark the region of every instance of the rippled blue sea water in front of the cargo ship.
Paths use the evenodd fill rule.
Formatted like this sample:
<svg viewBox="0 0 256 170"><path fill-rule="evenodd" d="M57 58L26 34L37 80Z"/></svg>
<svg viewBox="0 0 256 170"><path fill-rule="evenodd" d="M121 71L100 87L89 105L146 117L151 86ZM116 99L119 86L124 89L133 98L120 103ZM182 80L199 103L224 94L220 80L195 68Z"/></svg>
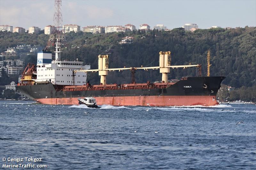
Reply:
<svg viewBox="0 0 256 170"><path fill-rule="evenodd" d="M256 169L255 105L95 109L0 101L0 130L1 168Z"/></svg>

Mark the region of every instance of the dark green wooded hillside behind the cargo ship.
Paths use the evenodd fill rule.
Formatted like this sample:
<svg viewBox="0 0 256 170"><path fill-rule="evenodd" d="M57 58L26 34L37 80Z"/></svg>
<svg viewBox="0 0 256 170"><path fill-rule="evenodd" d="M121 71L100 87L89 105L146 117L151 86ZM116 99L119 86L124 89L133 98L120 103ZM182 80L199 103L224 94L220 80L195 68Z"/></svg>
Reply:
<svg viewBox="0 0 256 170"><path fill-rule="evenodd" d="M127 33L92 34L83 32L66 33L62 59L82 59L91 69L98 68L98 55L109 54L109 68L158 66L159 52L171 51L171 65L202 64L202 76L206 75L206 55L211 52L211 76L225 76L223 84L232 87L252 87L256 85L256 27L231 29L198 29L185 32L183 28L171 31L151 30ZM134 37L132 44L119 44L125 36ZM21 44L35 44L45 47L49 35L0 32L0 52L8 47ZM48 43L48 45L51 43ZM53 47L50 48L53 51ZM30 55L25 65L36 64L36 55ZM197 68L171 69L168 79L197 76ZM161 80L159 70L137 70L137 83ZM99 84L97 73L88 73L92 84ZM129 83L130 71L113 71L107 76L107 83Z"/></svg>

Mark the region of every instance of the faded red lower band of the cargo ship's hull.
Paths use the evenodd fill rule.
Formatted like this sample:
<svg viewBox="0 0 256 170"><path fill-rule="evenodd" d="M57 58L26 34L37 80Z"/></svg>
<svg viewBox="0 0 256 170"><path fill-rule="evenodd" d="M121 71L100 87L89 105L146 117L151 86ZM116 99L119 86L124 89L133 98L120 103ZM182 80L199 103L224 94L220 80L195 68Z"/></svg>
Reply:
<svg viewBox="0 0 256 170"><path fill-rule="evenodd" d="M86 97L86 96L84 96ZM112 106L214 106L219 103L215 96L126 96L95 97L97 105ZM42 104L77 105L77 98L36 99Z"/></svg>

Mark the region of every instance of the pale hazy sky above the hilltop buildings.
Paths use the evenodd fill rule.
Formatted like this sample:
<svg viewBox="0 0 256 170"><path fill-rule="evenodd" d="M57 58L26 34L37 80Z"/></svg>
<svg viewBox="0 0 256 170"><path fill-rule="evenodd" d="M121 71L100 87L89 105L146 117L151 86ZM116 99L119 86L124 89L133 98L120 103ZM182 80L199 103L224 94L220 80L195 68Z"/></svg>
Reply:
<svg viewBox="0 0 256 170"><path fill-rule="evenodd" d="M54 0L0 0L0 25L23 27L53 25ZM151 28L164 24L168 29L186 23L199 28L211 26L256 26L256 0L207 1L84 1L62 0L65 24L82 27L132 24L139 28L146 23Z"/></svg>

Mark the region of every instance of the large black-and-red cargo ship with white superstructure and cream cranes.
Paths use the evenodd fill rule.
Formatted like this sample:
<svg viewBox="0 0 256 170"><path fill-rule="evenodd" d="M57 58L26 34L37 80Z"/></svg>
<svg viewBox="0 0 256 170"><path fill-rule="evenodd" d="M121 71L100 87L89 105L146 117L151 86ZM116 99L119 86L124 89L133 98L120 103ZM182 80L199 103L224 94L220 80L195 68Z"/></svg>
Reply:
<svg viewBox="0 0 256 170"><path fill-rule="evenodd" d="M171 65L171 52L159 53L159 66L139 68L108 68L108 55L99 55L99 68L79 61L60 60L60 42L55 42L55 60L48 50L37 54L37 66L28 64L17 89L30 99L42 104L74 105L77 98L94 97L98 105L113 106L213 106L216 94L225 77L183 77L168 82L170 68L188 68L201 65ZM160 83L135 83L134 74L130 84L106 84L108 71L160 70ZM201 69L200 69L201 70ZM100 85L86 82L87 72L98 72Z"/></svg>

